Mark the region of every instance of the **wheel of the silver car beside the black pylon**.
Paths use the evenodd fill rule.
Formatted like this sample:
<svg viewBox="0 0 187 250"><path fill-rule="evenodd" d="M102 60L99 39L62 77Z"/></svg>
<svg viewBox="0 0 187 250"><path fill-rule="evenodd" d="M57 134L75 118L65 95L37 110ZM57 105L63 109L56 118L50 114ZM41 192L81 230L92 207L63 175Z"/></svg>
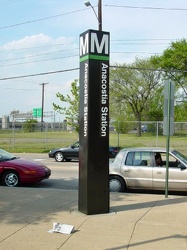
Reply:
<svg viewBox="0 0 187 250"><path fill-rule="evenodd" d="M110 192L123 192L126 189L125 181L119 176L109 176Z"/></svg>

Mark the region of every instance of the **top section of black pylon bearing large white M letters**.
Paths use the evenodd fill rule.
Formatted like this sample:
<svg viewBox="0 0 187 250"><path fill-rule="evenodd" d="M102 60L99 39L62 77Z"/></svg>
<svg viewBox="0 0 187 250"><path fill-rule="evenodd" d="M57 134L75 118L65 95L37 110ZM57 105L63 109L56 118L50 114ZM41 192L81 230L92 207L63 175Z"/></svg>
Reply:
<svg viewBox="0 0 187 250"><path fill-rule="evenodd" d="M88 56L89 55L89 56ZM109 58L109 33L88 30L80 36L80 58L82 61L94 56L102 56L101 60ZM86 58L85 58L86 57ZM96 59L96 58L95 58Z"/></svg>

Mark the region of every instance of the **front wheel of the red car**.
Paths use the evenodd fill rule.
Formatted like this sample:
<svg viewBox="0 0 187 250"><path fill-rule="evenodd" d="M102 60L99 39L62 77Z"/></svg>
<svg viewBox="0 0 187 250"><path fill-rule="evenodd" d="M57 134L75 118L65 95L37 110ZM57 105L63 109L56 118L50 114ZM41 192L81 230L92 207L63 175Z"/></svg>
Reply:
<svg viewBox="0 0 187 250"><path fill-rule="evenodd" d="M2 177L2 184L8 187L19 186L20 180L19 175L14 171L6 172Z"/></svg>

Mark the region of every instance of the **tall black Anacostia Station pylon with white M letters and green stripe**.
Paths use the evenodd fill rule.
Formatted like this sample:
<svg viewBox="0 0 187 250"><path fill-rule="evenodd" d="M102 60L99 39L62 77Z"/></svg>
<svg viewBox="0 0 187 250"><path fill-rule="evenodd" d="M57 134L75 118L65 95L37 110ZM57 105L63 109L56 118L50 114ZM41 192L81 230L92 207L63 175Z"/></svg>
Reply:
<svg viewBox="0 0 187 250"><path fill-rule="evenodd" d="M109 32L80 35L78 209L85 214L109 212L109 47Z"/></svg>

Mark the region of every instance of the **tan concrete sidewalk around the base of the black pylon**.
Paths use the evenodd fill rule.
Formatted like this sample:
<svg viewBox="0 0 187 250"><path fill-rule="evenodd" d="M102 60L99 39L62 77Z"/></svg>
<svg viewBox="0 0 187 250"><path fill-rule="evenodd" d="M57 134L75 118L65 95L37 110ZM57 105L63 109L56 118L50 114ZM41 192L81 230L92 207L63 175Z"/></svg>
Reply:
<svg viewBox="0 0 187 250"><path fill-rule="evenodd" d="M111 213L78 212L78 191L0 187L0 249L187 249L187 197L111 193ZM49 233L53 222L70 235Z"/></svg>

